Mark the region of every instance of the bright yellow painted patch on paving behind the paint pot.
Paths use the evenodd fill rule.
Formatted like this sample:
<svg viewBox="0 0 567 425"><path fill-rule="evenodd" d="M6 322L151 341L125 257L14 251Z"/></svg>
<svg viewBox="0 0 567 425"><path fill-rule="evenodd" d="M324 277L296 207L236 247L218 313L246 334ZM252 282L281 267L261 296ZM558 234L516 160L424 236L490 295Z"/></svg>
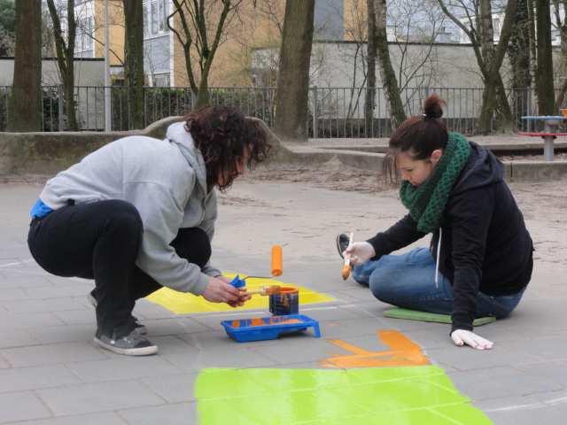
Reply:
<svg viewBox="0 0 567 425"><path fill-rule="evenodd" d="M236 274L224 274L229 279L232 279ZM245 276L245 275L243 275ZM303 286L294 285L288 282L276 281L275 279L264 278L250 278L246 279L246 288L248 290L260 290L264 286L280 285L289 286L299 289L299 305L327 303L334 301L328 295L309 290ZM252 299L246 302L242 307L233 308L224 303L210 303L203 297L197 297L193 294L178 292L170 290L169 288L162 288L155 291L150 296L146 297L152 303L161 305L167 310L175 314L189 314L189 313L214 313L214 312L238 312L243 310L268 310L269 301L268 297L260 295L252 295Z"/></svg>

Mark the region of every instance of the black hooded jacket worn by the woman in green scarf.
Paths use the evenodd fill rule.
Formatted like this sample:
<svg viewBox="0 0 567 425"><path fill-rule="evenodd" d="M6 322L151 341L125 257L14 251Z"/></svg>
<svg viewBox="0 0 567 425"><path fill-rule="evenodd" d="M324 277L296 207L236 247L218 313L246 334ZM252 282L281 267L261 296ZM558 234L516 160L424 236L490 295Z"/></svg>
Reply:
<svg viewBox="0 0 567 425"><path fill-rule="evenodd" d="M439 271L453 285L453 328L472 329L478 291L516 294L532 277L532 238L509 187L504 166L477 143L449 194L441 219ZM369 239L375 259L425 236L409 214ZM439 231L431 238L437 259Z"/></svg>

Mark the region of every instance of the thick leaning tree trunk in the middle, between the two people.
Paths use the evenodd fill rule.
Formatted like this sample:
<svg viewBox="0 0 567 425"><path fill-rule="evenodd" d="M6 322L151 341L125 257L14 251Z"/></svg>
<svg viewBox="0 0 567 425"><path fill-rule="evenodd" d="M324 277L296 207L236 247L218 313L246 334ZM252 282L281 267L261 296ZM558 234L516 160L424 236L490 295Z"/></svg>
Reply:
<svg viewBox="0 0 567 425"><path fill-rule="evenodd" d="M275 131L284 140L307 142L309 63L315 0L286 0L277 76Z"/></svg>

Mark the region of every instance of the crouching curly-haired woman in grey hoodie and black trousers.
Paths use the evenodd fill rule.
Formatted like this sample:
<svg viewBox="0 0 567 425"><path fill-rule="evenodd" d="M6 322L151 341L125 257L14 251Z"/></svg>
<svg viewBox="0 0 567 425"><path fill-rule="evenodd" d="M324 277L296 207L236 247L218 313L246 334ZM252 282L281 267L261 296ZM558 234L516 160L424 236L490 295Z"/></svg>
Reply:
<svg viewBox="0 0 567 425"><path fill-rule="evenodd" d="M29 249L51 274L95 280L97 344L154 354L132 315L136 299L166 286L232 306L246 300L209 261L215 188L228 189L269 150L256 122L224 106L191 112L164 140L108 143L46 183L31 211Z"/></svg>

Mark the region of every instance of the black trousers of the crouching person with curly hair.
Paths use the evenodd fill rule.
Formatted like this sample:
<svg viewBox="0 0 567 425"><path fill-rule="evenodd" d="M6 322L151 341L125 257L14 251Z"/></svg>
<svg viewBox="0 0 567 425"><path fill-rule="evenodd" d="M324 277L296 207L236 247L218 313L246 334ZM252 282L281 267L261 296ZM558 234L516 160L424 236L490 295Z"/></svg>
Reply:
<svg viewBox="0 0 567 425"><path fill-rule="evenodd" d="M106 336L128 335L132 310L161 285L136 267L143 224L136 207L107 200L68 205L32 220L27 245L35 261L50 274L94 279L97 327ZM204 267L211 243L200 228L181 228L171 246L177 255Z"/></svg>

